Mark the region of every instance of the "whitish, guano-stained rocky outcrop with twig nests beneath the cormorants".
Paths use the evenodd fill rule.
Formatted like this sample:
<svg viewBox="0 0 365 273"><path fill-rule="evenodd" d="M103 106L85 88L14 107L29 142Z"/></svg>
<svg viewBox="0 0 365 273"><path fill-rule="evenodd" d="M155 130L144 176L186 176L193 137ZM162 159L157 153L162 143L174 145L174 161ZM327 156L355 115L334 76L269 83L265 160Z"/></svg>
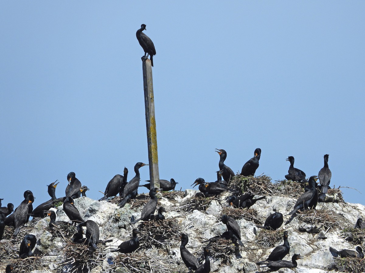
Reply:
<svg viewBox="0 0 365 273"><path fill-rule="evenodd" d="M98 249L91 253L87 246L72 244L70 238L75 232L74 226L49 228L49 218L34 219L28 227L21 230L15 243L10 240L11 228L5 230L5 238L1 246L11 246L13 250L2 253L5 260L2 264L14 263L17 258L21 236L34 234L37 238L36 259L28 259L27 272L82 272L74 267L78 258L90 259L88 269L95 273L102 272L187 272L180 257L180 233L187 233L189 242L187 248L196 257L203 260L202 248L204 242L225 232L220 218L222 214L232 215L240 228L241 238L245 246L239 249L242 258L235 255L235 247L231 242L223 240L211 245L211 272L259 272L255 262L265 260L275 246L283 244L283 232L289 232L290 253L285 260L291 260L295 253L304 256L298 261L296 272L328 272L328 266L334 262L329 247L335 249L355 249L357 244L363 244L362 239L345 240L346 229L352 228L358 218L365 218L365 207L361 204L345 202L318 203L316 210L304 211L295 217L288 213L292 210L299 193L284 196L267 195L266 199L257 201L250 209L230 209L227 207L223 194L218 198L197 198L196 191L163 193L158 199L158 206L166 209L164 223L139 222L130 224L134 215L138 218L141 208L149 199L138 199L123 208L118 207L119 198L112 202L96 201L87 197L75 199L75 206L81 216L93 220L99 225L100 240L111 240L106 244L98 244ZM336 197L334 197L336 198ZM276 231L260 228L266 217L274 211L283 213L284 224ZM62 206L57 208L57 221L68 221ZM287 224L285 225L285 222ZM140 248L132 254L111 252L118 245L131 237L131 230L137 227L140 231ZM308 233L314 231L315 233ZM363 245L362 245L363 246ZM76 252L76 253L75 253ZM80 253L79 253L80 252ZM10 261L12 259L12 261ZM39 263L36 266L35 263ZM78 261L80 263L80 261ZM20 263L19 263L20 264ZM24 266L18 269L24 270ZM86 267L85 267L86 268ZM17 268L15 268L16 272ZM81 271L80 271L81 270ZM20 272L21 270L18 270ZM76 272L75 271L75 272ZM280 272L293 272L291 269L281 269Z"/></svg>

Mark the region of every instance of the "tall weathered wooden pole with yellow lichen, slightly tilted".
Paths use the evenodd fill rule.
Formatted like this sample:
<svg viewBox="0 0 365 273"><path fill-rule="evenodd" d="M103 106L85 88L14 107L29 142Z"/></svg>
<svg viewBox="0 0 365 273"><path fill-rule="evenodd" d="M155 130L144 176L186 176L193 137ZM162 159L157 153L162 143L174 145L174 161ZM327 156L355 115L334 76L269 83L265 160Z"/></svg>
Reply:
<svg viewBox="0 0 365 273"><path fill-rule="evenodd" d="M155 120L155 103L153 97L152 67L150 59L142 57L143 68L143 89L145 91L145 109L146 109L146 127L147 127L147 145L148 161L150 167L151 189L157 187L160 189L160 175L158 174L158 156L157 156L157 135Z"/></svg>

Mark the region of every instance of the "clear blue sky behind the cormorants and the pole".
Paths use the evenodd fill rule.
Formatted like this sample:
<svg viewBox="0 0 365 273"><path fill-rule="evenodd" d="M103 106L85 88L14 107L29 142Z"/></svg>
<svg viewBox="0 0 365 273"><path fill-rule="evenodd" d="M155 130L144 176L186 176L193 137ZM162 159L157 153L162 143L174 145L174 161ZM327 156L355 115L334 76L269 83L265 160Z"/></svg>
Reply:
<svg viewBox="0 0 365 273"><path fill-rule="evenodd" d="M99 199L148 163L141 24L161 179L215 181L215 148L238 172L259 147L258 175L284 179L288 156L317 175L328 153L331 186L364 194L364 14L364 1L2 1L3 206L28 189L39 205L56 179L64 196L70 171Z"/></svg>

